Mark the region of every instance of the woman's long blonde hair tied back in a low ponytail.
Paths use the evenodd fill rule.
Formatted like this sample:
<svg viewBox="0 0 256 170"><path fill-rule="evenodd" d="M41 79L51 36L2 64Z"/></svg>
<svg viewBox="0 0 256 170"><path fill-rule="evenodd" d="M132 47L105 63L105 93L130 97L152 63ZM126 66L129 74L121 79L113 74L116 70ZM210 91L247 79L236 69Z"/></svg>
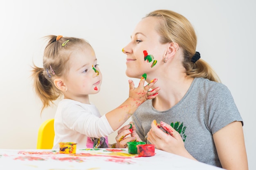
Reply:
<svg viewBox="0 0 256 170"><path fill-rule="evenodd" d="M152 11L146 17L159 18L159 26L157 26L156 31L161 36L161 43L175 42L182 48L183 66L188 76L221 82L216 72L206 61L199 59L195 63L191 62L191 58L196 52L197 37L189 20L183 15L169 10Z"/></svg>

